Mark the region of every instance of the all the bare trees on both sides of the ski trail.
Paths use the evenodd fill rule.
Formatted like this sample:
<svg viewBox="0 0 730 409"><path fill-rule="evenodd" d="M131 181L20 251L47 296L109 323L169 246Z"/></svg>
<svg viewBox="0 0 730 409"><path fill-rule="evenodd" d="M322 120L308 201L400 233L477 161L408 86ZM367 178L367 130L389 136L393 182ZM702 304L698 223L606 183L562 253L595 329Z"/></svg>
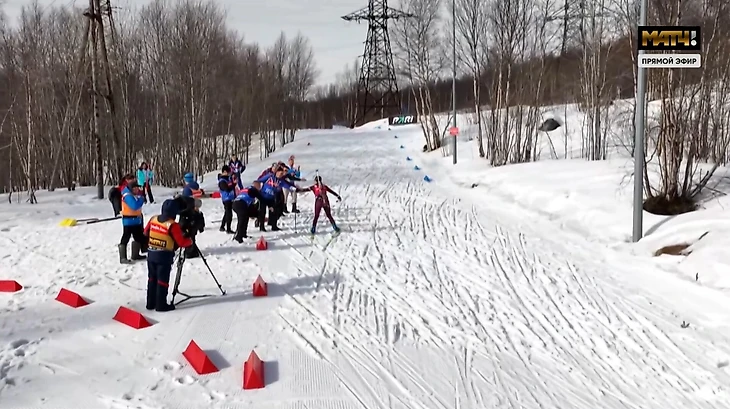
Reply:
<svg viewBox="0 0 730 409"><path fill-rule="evenodd" d="M538 159L541 107L558 104L577 104L584 114L584 158L606 159L616 144L633 152L636 107L625 113L619 135L612 134L611 107L636 92L639 1L456 0L455 21L451 3L391 4L414 15L394 23L391 38L404 106L421 118L427 149L438 149L446 131L436 114L451 108L455 25L457 108L475 125L488 163ZM124 18L101 19L109 62L100 58L96 67L96 95L107 181L145 159L162 183L173 184L183 171L218 166L230 153L220 150L248 157L258 139L261 152L254 154L266 156L297 129L352 121L357 61L343 61L336 83L315 88L306 37L282 35L260 49L228 29L224 17L215 3L156 1ZM95 59L80 51L88 20L81 10L28 6L16 24L0 21L5 189L95 180ZM701 69L650 70L648 77L649 100L661 105L647 127L648 203L681 211L728 160L730 3L649 0L648 20L703 28ZM232 145L215 143L221 135Z"/></svg>

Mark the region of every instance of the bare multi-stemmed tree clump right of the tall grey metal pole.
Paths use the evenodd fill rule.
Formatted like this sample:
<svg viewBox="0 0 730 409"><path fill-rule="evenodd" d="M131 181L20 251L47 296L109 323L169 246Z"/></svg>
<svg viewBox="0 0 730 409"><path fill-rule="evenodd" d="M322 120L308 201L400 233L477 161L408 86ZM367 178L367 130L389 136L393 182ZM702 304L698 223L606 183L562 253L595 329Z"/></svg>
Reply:
<svg viewBox="0 0 730 409"><path fill-rule="evenodd" d="M657 25L706 22L703 67L653 70L661 110L656 149L659 183L648 186L646 208L660 214L691 211L696 198L721 165L730 144L730 35L728 4L684 0L655 0ZM699 74L699 81L693 81ZM709 166L700 166L709 162ZM647 178L648 179L648 178Z"/></svg>

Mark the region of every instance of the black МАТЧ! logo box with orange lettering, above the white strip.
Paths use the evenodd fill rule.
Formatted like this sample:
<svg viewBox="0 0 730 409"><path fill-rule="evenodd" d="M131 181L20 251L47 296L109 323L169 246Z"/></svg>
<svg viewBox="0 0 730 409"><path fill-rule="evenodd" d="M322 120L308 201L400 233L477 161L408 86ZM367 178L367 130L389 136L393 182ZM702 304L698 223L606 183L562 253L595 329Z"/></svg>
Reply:
<svg viewBox="0 0 730 409"><path fill-rule="evenodd" d="M639 26L639 50L702 51L699 26Z"/></svg>

